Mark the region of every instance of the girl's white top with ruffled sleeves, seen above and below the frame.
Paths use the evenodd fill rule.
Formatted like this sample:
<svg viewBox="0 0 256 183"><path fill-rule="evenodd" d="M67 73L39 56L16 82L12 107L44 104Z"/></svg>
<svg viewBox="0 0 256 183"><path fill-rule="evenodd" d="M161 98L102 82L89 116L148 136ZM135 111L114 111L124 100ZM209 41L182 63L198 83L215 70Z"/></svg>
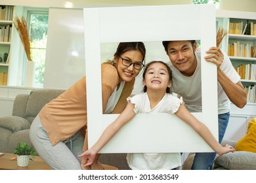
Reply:
<svg viewBox="0 0 256 183"><path fill-rule="evenodd" d="M154 108L150 108L148 94L140 93L128 97L127 101L135 104L134 112L137 113L169 113L174 114L179 110L182 98L179 99L170 93L165 93L161 101ZM157 122L156 122L157 123ZM158 129L161 130L161 129ZM150 135L150 134L149 134ZM152 144L154 145L154 144ZM168 145L168 144L166 144ZM180 153L129 153L127 163L134 170L169 170L181 166Z"/></svg>

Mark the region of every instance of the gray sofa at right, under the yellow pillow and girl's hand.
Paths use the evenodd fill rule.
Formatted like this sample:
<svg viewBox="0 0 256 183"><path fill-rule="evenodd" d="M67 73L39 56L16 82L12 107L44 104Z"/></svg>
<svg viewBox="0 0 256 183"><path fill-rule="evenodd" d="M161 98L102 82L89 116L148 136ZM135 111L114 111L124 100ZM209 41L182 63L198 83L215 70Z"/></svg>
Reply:
<svg viewBox="0 0 256 183"><path fill-rule="evenodd" d="M236 141L230 141L224 139L221 144L230 144L236 146ZM190 170L193 160L194 153L190 153L182 165L182 170ZM236 151L229 152L223 156L217 155L214 160L213 170L255 170L256 169L256 153Z"/></svg>

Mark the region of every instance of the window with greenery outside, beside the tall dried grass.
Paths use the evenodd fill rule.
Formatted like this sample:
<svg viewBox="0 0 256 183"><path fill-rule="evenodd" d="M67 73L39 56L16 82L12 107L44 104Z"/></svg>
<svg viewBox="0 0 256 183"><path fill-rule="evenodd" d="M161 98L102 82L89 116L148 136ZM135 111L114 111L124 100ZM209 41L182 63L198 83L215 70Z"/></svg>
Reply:
<svg viewBox="0 0 256 183"><path fill-rule="evenodd" d="M35 61L34 86L36 87L43 86L48 17L48 9L27 11L27 23L30 33L32 59ZM24 67L26 67L26 60L24 60Z"/></svg>

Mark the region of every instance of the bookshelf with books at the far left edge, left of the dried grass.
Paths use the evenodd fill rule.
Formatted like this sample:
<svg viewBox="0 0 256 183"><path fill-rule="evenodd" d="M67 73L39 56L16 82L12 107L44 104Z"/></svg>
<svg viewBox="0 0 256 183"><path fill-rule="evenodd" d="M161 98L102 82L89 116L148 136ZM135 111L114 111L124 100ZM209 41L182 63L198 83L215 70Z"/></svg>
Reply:
<svg viewBox="0 0 256 183"><path fill-rule="evenodd" d="M0 86L8 83L13 6L0 5Z"/></svg>

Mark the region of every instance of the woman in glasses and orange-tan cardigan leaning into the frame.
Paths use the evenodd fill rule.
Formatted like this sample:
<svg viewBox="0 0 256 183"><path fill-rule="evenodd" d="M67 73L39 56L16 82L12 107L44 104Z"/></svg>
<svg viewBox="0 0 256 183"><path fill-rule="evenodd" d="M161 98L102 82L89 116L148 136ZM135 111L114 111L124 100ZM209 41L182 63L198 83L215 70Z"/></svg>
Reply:
<svg viewBox="0 0 256 183"><path fill-rule="evenodd" d="M145 54L142 42L120 42L114 60L102 63L104 114L123 111L135 77L144 67ZM78 157L88 148L85 77L41 109L30 127L30 139L52 169L102 169L98 156L90 167L84 166L87 159Z"/></svg>

